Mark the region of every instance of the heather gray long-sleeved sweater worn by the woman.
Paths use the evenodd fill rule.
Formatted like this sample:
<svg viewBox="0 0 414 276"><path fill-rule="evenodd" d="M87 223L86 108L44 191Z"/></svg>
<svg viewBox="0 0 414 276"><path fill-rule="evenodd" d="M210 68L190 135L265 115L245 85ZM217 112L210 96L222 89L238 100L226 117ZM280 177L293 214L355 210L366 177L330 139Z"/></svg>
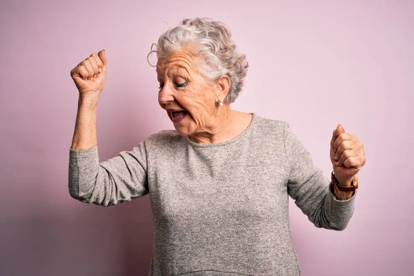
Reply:
<svg viewBox="0 0 414 276"><path fill-rule="evenodd" d="M149 193L149 275L301 275L288 195L316 227L344 230L357 193L337 200L288 123L251 114L215 144L161 130L102 162L97 146L70 148L70 195L110 206Z"/></svg>

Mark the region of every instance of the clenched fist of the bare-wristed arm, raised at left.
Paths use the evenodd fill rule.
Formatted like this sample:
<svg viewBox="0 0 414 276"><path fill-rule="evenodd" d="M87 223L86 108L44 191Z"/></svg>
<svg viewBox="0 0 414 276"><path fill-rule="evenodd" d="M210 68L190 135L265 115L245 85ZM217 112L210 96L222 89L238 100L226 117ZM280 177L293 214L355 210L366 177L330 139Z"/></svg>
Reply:
<svg viewBox="0 0 414 276"><path fill-rule="evenodd" d="M105 50L92 53L75 68L70 70L70 77L75 81L79 95L98 95L103 90L106 77Z"/></svg>

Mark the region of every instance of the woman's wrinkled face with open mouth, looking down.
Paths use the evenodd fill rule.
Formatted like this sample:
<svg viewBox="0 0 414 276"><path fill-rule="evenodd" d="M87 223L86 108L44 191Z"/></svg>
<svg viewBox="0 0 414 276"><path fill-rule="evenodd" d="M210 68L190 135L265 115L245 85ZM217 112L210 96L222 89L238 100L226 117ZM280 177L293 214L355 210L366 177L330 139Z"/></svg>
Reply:
<svg viewBox="0 0 414 276"><path fill-rule="evenodd" d="M220 86L208 82L197 72L197 57L189 50L172 53L157 62L159 81L158 101L167 111L175 129L181 135L204 132L215 125ZM184 110L184 118L175 118L168 111Z"/></svg>

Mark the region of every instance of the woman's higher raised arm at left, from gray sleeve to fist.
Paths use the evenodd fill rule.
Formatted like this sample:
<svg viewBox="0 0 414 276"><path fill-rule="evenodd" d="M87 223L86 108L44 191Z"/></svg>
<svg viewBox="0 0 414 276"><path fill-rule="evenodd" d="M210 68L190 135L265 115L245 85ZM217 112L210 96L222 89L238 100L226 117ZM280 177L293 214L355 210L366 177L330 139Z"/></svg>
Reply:
<svg viewBox="0 0 414 276"><path fill-rule="evenodd" d="M79 90L75 132L69 152L70 195L88 204L110 206L148 194L149 139L99 163L96 120L97 103L106 77L105 51L81 61L70 75Z"/></svg>

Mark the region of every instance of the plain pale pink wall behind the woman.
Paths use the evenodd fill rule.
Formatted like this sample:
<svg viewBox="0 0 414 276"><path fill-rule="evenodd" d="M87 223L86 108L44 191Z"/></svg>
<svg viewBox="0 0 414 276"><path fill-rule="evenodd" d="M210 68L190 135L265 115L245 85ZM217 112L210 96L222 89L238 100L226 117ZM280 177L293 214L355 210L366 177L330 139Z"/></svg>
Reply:
<svg viewBox="0 0 414 276"><path fill-rule="evenodd" d="M224 21L246 53L233 109L288 121L327 176L337 124L364 143L346 230L315 228L290 201L303 275L413 275L413 1L195 2L0 2L0 275L148 273L148 195L104 208L68 193L70 70L106 49L97 134L113 157L173 128L146 55L187 17Z"/></svg>

